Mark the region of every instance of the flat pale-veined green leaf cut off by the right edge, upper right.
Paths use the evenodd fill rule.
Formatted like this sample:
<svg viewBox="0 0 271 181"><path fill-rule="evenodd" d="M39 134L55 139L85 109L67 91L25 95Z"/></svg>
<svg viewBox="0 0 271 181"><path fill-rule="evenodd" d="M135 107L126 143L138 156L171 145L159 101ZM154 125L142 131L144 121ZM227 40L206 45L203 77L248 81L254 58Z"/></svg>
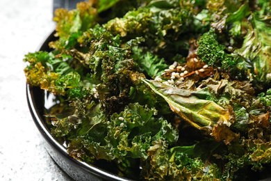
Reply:
<svg viewBox="0 0 271 181"><path fill-rule="evenodd" d="M270 81L270 57L271 57L271 25L270 17L249 17L249 29L243 46L236 49L236 53L248 58L253 63L255 81L258 86Z"/></svg>

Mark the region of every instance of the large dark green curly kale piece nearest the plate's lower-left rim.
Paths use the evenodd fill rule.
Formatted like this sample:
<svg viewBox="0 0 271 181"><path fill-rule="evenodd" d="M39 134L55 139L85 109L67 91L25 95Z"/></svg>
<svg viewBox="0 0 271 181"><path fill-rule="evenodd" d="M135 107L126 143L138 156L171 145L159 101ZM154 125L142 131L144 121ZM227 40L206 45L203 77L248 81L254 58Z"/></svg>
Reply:
<svg viewBox="0 0 271 181"><path fill-rule="evenodd" d="M142 162L147 159L147 150L153 141L162 140L172 145L178 139L178 130L167 120L156 118L155 109L137 103L129 104L120 114L114 113L107 119L99 105L93 108L88 118L81 119L81 123L74 124L69 118L59 119L56 123L61 127L66 126L66 129L61 128L66 133L72 130L69 125L79 127L76 134L68 132L71 139L68 152L73 157L85 158L86 161L95 157L116 162L120 171L133 174L133 169L138 169L137 165L133 165L136 159ZM58 127L54 132L57 133Z"/></svg>

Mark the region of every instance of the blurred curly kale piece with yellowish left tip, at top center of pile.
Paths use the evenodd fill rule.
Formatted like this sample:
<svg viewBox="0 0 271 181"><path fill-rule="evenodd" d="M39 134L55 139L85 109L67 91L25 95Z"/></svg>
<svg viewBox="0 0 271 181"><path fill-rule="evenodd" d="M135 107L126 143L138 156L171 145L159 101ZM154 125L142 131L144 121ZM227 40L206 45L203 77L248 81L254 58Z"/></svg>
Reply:
<svg viewBox="0 0 271 181"><path fill-rule="evenodd" d="M193 20L192 13L180 9L179 6L176 8L145 6L129 11L122 18L110 20L105 27L113 35L119 34L125 40L144 38L145 42L142 46L147 47L149 52L159 52L160 49L163 51L167 46L172 47L174 51L179 51L177 47L179 41L176 40L186 38L180 36L182 33L194 31L194 27L190 29L190 26L187 26ZM170 52L161 52L161 54L165 56Z"/></svg>

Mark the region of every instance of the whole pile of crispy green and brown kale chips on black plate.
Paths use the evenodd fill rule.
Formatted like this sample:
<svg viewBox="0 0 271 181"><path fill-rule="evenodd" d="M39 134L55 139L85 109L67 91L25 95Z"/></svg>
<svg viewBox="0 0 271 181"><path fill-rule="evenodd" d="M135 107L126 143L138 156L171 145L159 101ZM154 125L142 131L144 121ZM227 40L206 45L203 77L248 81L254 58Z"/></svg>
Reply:
<svg viewBox="0 0 271 181"><path fill-rule="evenodd" d="M49 117L69 155L136 180L268 177L269 0L92 0L55 14L58 40L24 71L68 102Z"/></svg>

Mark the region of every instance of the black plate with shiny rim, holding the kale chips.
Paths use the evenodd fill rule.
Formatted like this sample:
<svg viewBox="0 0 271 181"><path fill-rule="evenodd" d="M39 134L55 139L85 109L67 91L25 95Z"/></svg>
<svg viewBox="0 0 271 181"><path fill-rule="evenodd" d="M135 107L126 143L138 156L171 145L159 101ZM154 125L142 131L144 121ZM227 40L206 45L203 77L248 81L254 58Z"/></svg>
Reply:
<svg viewBox="0 0 271 181"><path fill-rule="evenodd" d="M56 40L54 33L51 33L42 45L38 48L40 51L50 51L48 43ZM38 87L26 84L26 96L31 116L38 127L44 139L44 145L49 155L54 159L56 164L60 166L74 180L129 180L121 178L113 173L104 171L103 169L81 162L78 159L67 154L67 149L51 135L49 125L44 116L44 100L45 92Z"/></svg>

